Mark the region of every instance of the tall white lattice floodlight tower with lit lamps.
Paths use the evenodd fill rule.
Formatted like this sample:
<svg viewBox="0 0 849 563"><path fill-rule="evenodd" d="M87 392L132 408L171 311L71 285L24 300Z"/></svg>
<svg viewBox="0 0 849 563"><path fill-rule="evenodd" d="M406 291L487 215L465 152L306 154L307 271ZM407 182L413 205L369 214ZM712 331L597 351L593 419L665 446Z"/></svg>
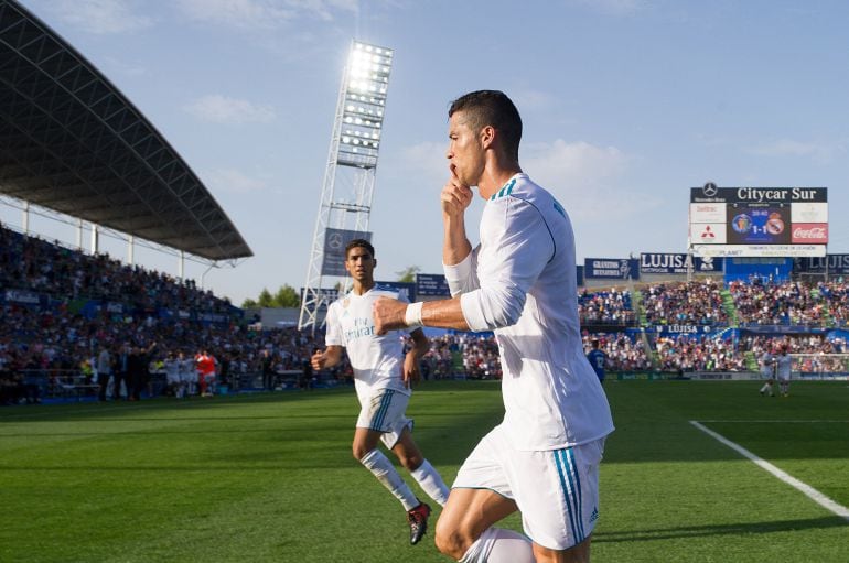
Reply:
<svg viewBox="0 0 849 563"><path fill-rule="evenodd" d="M323 290L346 275L345 245L372 237L368 220L391 66L393 50L351 43L301 296L300 329L315 329L319 310L326 304Z"/></svg>

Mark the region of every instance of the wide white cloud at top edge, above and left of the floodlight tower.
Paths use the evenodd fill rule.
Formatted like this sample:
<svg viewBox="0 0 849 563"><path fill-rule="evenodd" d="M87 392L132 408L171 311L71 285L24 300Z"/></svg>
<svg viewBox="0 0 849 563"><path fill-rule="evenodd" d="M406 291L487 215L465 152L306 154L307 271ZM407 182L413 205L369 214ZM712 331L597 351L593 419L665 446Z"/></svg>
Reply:
<svg viewBox="0 0 849 563"><path fill-rule="evenodd" d="M323 21L336 11L356 12L355 0L179 0L190 19L241 30L275 30L299 17Z"/></svg>

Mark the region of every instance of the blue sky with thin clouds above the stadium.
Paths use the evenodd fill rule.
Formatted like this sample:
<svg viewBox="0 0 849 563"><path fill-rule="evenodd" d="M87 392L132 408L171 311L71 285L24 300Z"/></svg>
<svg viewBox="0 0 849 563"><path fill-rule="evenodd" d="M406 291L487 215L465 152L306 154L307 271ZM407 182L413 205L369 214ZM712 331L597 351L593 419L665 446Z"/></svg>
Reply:
<svg viewBox="0 0 849 563"><path fill-rule="evenodd" d="M132 100L235 223L254 258L186 274L237 304L304 283L352 39L395 50L370 217L379 279L441 272L445 112L482 88L518 106L520 163L569 212L579 263L685 251L688 188L708 181L828 187L828 250L849 252L845 2L21 1ZM0 220L20 225L20 212L0 206ZM68 226L32 227L74 240ZM176 272L173 257L136 260Z"/></svg>

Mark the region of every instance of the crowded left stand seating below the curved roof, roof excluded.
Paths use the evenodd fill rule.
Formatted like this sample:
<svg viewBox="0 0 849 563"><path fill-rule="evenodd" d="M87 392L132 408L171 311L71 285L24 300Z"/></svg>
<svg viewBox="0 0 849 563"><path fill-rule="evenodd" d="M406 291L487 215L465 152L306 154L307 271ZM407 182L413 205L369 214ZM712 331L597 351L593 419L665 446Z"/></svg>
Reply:
<svg viewBox="0 0 849 563"><path fill-rule="evenodd" d="M208 348L222 383L256 387L259 353L273 370L299 379L318 338L293 328L254 333L241 311L191 280L89 256L0 227L0 387L3 403L36 402L80 391L95 394L99 347L115 357L125 344L158 343L154 364L169 354ZM243 377L244 376L244 377ZM240 379L239 379L240 378ZM237 381L238 380L238 381ZM152 378L152 382L161 378ZM148 386L147 396L163 386Z"/></svg>

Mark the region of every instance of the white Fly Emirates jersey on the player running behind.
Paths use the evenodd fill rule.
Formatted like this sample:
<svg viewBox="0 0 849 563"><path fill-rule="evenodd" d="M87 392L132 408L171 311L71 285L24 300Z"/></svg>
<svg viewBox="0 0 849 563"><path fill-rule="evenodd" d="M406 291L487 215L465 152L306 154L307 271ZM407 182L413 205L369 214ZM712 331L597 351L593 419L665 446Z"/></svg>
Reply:
<svg viewBox="0 0 849 563"><path fill-rule="evenodd" d="M344 346L351 367L354 368L354 386L361 402L375 389L395 389L405 394L410 390L404 385L405 331L390 331L383 336L375 334L372 306L377 297L407 301L391 288L375 285L362 295L348 292L327 308L327 346Z"/></svg>

